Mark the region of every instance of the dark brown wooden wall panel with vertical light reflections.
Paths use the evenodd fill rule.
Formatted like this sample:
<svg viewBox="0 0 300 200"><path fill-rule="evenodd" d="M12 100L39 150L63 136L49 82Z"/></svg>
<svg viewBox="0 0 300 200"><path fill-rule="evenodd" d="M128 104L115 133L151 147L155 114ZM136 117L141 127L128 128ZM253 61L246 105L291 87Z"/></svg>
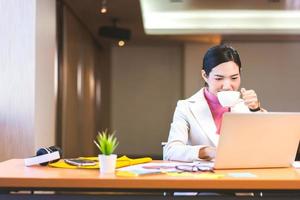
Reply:
<svg viewBox="0 0 300 200"><path fill-rule="evenodd" d="M62 133L64 156L94 154L95 43L73 13L64 9Z"/></svg>

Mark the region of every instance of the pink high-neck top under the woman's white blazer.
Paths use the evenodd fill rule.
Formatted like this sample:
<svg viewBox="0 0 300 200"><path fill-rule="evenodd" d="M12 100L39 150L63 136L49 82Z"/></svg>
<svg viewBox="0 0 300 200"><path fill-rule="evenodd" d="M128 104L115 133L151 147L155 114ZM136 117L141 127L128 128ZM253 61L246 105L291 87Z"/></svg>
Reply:
<svg viewBox="0 0 300 200"><path fill-rule="evenodd" d="M217 134L220 134L220 128L222 124L223 114L225 112L230 112L229 107L222 107L220 104L218 97L212 93L210 93L207 88L204 89L204 97L208 103L210 111L215 121L215 125L217 127Z"/></svg>

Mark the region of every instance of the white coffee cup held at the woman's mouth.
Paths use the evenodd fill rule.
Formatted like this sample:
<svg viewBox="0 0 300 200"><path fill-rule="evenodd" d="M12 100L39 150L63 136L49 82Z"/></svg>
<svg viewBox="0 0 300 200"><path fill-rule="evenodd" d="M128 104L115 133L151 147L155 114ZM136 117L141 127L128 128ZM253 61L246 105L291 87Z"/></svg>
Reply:
<svg viewBox="0 0 300 200"><path fill-rule="evenodd" d="M217 93L217 97L223 107L232 107L240 101L240 92L221 91Z"/></svg>

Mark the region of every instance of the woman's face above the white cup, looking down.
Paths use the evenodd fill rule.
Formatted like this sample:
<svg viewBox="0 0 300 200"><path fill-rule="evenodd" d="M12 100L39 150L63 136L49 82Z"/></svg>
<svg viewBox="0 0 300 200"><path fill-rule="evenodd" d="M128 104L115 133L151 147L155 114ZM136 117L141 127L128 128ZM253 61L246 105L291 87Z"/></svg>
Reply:
<svg viewBox="0 0 300 200"><path fill-rule="evenodd" d="M208 76L202 70L202 77L208 84L208 91L215 95L220 91L237 91L241 84L239 67L233 61L217 65L211 70Z"/></svg>

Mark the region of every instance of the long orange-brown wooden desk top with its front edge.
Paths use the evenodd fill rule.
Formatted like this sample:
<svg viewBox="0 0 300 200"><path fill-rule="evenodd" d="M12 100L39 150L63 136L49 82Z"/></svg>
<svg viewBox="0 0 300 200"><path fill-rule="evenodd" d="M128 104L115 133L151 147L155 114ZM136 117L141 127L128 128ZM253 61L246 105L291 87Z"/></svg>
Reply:
<svg viewBox="0 0 300 200"><path fill-rule="evenodd" d="M249 172L256 177L233 178L228 176L232 172ZM0 188L300 190L300 170L294 168L218 170L216 173L225 176L217 179L166 174L101 176L95 169L25 167L23 159L12 159L0 163Z"/></svg>

